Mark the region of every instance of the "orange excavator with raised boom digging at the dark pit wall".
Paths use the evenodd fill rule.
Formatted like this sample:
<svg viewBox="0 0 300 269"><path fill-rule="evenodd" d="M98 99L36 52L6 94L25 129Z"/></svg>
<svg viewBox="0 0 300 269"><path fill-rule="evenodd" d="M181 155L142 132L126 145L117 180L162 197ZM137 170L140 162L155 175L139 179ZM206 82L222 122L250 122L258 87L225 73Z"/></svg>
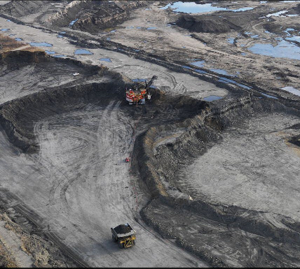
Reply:
<svg viewBox="0 0 300 269"><path fill-rule="evenodd" d="M151 99L151 94L149 92L149 88L154 82L154 80L157 79L157 76L154 75L149 82L145 82L146 86L142 86L140 83L136 83L133 85L132 89L126 89L126 101L130 105L133 104L140 104L144 105L147 100Z"/></svg>

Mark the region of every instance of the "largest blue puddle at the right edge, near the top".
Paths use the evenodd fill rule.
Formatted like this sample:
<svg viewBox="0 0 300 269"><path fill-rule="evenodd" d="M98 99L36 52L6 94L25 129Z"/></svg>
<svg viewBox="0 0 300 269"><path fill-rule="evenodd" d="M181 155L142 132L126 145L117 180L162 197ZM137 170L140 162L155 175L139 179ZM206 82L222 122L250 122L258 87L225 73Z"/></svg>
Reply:
<svg viewBox="0 0 300 269"><path fill-rule="evenodd" d="M288 38L287 38L288 39ZM296 41L296 37L294 37ZM291 39L292 40L292 39ZM300 48L288 41L282 40L273 47L271 44L257 43L253 45L249 50L255 54L266 55L271 57L300 59Z"/></svg>

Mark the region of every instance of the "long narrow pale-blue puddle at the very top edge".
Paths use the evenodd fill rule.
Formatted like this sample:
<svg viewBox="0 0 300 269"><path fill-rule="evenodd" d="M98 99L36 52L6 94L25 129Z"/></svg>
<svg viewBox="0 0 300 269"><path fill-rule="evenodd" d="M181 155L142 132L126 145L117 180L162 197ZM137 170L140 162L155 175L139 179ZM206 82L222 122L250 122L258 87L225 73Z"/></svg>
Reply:
<svg viewBox="0 0 300 269"><path fill-rule="evenodd" d="M212 6L212 3L196 3L196 2L182 2L178 1L175 3L168 3L167 6L164 6L161 9L172 8L174 12L183 12L183 13L207 13L212 11L233 11L240 12L251 10L253 8L238 8L238 9L230 9L230 8L219 8L217 6Z"/></svg>

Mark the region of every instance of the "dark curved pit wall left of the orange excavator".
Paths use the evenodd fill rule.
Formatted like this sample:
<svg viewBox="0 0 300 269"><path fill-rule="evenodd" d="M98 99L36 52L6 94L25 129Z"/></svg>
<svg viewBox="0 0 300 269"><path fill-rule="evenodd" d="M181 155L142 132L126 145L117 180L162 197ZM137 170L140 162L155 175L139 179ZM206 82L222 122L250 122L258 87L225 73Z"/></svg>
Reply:
<svg viewBox="0 0 300 269"><path fill-rule="evenodd" d="M56 59L44 52L6 52L0 54L0 64L8 68L18 68L25 64L41 61L63 61L89 68L90 75L107 76L111 82L76 85L73 87L53 87L44 89L20 99L9 101L0 106L0 124L13 145L26 153L39 150L34 136L34 122L45 117L80 108L87 103L108 102L112 96L123 98L123 89L128 85L122 75L105 67L88 66L72 59ZM90 77L89 77L90 78ZM87 78L88 79L88 78ZM83 79L84 80L84 79ZM114 94L112 95L112 92Z"/></svg>

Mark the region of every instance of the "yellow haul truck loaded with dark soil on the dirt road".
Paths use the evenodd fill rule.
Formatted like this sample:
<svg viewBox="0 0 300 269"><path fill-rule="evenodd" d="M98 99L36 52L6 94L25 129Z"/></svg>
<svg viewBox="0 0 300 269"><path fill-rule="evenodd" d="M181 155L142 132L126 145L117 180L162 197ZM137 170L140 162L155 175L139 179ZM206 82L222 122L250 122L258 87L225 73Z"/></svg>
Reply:
<svg viewBox="0 0 300 269"><path fill-rule="evenodd" d="M111 228L112 239L118 242L118 247L131 247L135 245L135 230L129 224L121 224L115 228Z"/></svg>

